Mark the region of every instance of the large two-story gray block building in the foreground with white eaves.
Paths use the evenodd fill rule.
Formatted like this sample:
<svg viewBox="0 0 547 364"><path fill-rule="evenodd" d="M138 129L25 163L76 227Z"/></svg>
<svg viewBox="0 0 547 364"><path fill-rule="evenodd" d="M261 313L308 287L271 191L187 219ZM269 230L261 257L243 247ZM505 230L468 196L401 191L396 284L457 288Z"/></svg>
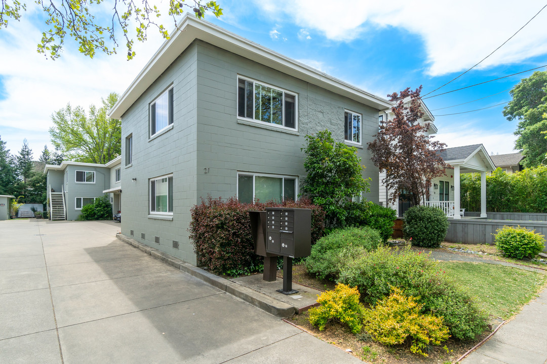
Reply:
<svg viewBox="0 0 547 364"><path fill-rule="evenodd" d="M196 264L190 209L201 198L296 199L305 136L366 143L386 99L187 15L110 111L121 119L121 233Z"/></svg>

